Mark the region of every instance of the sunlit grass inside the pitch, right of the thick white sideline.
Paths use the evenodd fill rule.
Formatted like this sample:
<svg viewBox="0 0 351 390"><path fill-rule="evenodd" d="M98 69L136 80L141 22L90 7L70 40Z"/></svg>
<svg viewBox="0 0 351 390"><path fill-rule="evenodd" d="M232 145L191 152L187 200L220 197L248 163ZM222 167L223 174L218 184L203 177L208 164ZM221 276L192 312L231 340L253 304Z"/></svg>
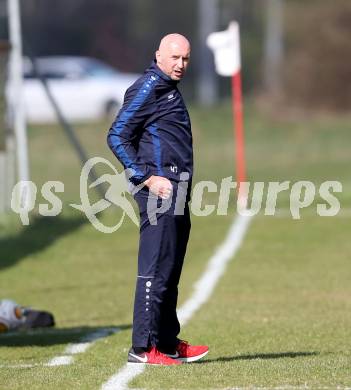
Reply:
<svg viewBox="0 0 351 390"><path fill-rule="evenodd" d="M184 330L198 342L215 340L211 353L162 375L149 369L131 387L350 386L348 224L257 218L216 292ZM321 245L325 237L330 241Z"/></svg>

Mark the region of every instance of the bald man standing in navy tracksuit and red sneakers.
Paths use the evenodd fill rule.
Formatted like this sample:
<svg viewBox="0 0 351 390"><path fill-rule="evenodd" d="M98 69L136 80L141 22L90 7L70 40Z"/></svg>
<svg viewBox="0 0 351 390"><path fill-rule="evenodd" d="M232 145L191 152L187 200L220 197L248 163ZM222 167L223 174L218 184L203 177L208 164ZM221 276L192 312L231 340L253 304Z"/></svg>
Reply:
<svg viewBox="0 0 351 390"><path fill-rule="evenodd" d="M193 148L189 113L177 85L190 60L180 34L162 38L156 58L128 88L108 145L138 187L138 276L128 362L193 362L207 346L180 340L178 283L190 233ZM142 187L140 189L140 187Z"/></svg>

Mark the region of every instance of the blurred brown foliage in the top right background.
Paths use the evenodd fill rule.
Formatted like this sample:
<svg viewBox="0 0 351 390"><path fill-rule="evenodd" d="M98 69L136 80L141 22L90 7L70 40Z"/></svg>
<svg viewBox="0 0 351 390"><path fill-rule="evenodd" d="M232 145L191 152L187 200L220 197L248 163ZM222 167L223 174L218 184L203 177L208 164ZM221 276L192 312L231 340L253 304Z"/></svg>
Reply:
<svg viewBox="0 0 351 390"><path fill-rule="evenodd" d="M307 108L351 106L351 3L290 1L285 95Z"/></svg>

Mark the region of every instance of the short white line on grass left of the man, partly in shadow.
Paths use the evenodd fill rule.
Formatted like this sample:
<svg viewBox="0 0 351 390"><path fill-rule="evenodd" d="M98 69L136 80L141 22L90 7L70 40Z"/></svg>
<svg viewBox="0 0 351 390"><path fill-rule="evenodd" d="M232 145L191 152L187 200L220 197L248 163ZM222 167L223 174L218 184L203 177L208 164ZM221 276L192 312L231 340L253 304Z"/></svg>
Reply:
<svg viewBox="0 0 351 390"><path fill-rule="evenodd" d="M51 359L45 366L67 366L71 364L74 360L72 355L77 355L79 353L85 352L90 348L98 339L106 337L112 333L119 332L119 328L106 328L99 329L96 332L90 333L87 336L83 337L79 343L69 344L61 356L55 356Z"/></svg>

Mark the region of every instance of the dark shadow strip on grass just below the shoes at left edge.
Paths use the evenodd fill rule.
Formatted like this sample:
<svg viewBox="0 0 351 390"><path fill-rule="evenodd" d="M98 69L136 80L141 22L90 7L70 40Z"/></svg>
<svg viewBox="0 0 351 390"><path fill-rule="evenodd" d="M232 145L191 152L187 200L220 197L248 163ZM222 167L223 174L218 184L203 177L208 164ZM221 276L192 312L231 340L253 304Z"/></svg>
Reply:
<svg viewBox="0 0 351 390"><path fill-rule="evenodd" d="M18 331L0 334L1 347L46 347L58 344L70 344L90 341L106 337L110 334L131 329L132 325L112 325L112 326L83 326L76 328L43 328L31 329L28 331ZM99 333L101 332L101 335ZM95 337L96 336L96 337Z"/></svg>

